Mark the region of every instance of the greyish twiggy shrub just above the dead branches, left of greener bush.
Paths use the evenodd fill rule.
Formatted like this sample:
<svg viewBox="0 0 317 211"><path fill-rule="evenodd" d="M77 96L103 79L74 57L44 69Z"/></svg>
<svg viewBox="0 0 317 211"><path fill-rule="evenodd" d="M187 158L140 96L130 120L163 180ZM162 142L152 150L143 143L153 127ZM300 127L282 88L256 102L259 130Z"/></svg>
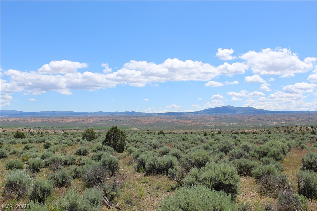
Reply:
<svg viewBox="0 0 317 211"><path fill-rule="evenodd" d="M101 185L107 179L107 167L98 162L86 164L82 167L81 180L86 187L94 187Z"/></svg>

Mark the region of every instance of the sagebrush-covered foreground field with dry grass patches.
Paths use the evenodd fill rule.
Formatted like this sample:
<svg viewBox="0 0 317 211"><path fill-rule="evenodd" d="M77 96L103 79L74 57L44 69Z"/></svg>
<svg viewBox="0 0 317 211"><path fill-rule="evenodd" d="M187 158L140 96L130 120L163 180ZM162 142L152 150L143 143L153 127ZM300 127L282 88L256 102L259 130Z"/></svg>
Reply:
<svg viewBox="0 0 317 211"><path fill-rule="evenodd" d="M34 135L14 139L17 130L7 129L1 133L1 200L29 202L38 210L104 210L103 196L120 209L188 204L193 209L314 210L316 136L285 128L271 128L271 134L267 129L159 128L122 135L113 127L91 141L80 131L31 128ZM160 131L164 134L157 135ZM106 145L110 133L121 134L124 143ZM207 193L214 203L198 197Z"/></svg>

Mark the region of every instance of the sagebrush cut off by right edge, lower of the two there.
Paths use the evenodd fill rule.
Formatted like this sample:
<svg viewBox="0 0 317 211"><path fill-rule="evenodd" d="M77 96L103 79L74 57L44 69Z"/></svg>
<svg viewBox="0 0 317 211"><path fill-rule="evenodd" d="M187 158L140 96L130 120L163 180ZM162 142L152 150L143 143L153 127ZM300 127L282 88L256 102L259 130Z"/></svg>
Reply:
<svg viewBox="0 0 317 211"><path fill-rule="evenodd" d="M317 173L311 170L301 171L297 187L298 194L309 199L317 198Z"/></svg>

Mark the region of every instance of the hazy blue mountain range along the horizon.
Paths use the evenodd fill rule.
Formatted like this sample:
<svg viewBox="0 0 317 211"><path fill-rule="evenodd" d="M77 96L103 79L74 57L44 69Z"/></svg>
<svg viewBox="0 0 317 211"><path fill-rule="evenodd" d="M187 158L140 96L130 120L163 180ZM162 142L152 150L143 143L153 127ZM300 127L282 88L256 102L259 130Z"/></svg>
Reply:
<svg viewBox="0 0 317 211"><path fill-rule="evenodd" d="M144 113L136 111L125 112L75 112L75 111L16 111L16 110L1 110L1 116L61 116L61 115L215 115L215 114L276 114L276 113L315 113L316 111L269 111L264 109L255 109L252 107L233 107L222 106L210 109L204 109L193 112L166 112L166 113Z"/></svg>

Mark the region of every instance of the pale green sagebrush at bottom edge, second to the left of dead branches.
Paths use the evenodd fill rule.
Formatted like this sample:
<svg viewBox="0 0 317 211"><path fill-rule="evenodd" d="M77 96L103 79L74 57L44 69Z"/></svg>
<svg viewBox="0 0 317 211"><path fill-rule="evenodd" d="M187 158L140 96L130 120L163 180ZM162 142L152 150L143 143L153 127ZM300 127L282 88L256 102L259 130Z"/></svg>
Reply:
<svg viewBox="0 0 317 211"><path fill-rule="evenodd" d="M83 200L81 196L74 190L69 189L65 197L60 197L58 200L58 207L61 210L69 211L86 211L89 210L87 201Z"/></svg>

